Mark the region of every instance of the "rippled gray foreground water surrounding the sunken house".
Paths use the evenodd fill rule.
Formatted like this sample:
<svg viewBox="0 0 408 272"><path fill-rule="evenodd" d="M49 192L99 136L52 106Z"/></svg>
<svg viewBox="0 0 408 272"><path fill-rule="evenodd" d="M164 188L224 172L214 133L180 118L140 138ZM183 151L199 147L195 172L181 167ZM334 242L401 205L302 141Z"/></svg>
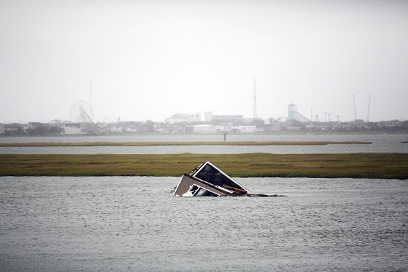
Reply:
<svg viewBox="0 0 408 272"><path fill-rule="evenodd" d="M237 179L280 198L178 198L173 177L0 177L1 271L403 271L407 181Z"/></svg>

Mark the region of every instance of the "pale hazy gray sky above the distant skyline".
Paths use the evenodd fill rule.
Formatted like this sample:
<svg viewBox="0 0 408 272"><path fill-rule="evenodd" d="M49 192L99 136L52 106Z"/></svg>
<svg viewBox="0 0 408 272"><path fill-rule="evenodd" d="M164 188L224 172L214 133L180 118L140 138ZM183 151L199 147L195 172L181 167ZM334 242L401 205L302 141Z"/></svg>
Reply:
<svg viewBox="0 0 408 272"><path fill-rule="evenodd" d="M408 120L408 1L0 1L0 122ZM313 113L311 112L313 111Z"/></svg>

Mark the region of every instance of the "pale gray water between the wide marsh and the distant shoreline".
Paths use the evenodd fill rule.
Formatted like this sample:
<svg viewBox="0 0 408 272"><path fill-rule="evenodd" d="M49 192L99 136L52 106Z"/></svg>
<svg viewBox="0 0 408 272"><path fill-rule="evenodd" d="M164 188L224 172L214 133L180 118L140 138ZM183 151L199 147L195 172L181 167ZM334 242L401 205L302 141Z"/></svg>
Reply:
<svg viewBox="0 0 408 272"><path fill-rule="evenodd" d="M0 143L12 142L84 142L84 141L223 141L223 135L133 135L93 137L0 137ZM228 141L368 141L372 144L345 144L326 146L84 146L84 147L30 147L1 148L1 154L237 154L269 152L298 153L352 153L403 152L408 153L407 135L227 135Z"/></svg>

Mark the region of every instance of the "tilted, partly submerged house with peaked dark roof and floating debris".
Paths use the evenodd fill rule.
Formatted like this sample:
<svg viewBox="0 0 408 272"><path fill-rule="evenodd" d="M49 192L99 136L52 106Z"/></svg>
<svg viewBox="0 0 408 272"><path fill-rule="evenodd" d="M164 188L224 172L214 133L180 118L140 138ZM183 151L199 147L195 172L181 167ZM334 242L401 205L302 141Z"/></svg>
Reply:
<svg viewBox="0 0 408 272"><path fill-rule="evenodd" d="M244 186L234 181L214 164L206 161L198 168L183 174L179 184L172 190L173 196L283 196L251 194Z"/></svg>

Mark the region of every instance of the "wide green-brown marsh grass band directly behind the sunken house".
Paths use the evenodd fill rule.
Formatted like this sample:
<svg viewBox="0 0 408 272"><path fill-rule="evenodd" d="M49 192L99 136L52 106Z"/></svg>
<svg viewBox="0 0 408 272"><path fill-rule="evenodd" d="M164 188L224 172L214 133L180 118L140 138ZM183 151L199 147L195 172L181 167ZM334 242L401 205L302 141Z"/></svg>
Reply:
<svg viewBox="0 0 408 272"><path fill-rule="evenodd" d="M406 153L1 154L0 176L179 177L207 160L231 177L408 179Z"/></svg>

